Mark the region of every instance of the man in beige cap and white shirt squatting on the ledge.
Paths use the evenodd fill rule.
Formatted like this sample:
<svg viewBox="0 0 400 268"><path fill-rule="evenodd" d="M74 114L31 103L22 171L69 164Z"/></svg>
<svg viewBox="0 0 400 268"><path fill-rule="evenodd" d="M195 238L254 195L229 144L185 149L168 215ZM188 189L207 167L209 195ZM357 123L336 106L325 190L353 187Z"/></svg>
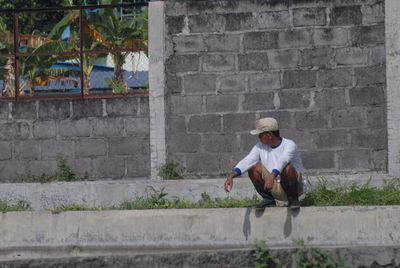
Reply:
<svg viewBox="0 0 400 268"><path fill-rule="evenodd" d="M303 194L305 185L297 145L280 136L278 122L271 117L258 120L257 128L250 133L258 135L260 142L229 174L224 184L225 191L231 191L233 178L248 171L256 191L263 198L256 208L275 206L277 199L288 201L292 210L299 209L299 195Z"/></svg>

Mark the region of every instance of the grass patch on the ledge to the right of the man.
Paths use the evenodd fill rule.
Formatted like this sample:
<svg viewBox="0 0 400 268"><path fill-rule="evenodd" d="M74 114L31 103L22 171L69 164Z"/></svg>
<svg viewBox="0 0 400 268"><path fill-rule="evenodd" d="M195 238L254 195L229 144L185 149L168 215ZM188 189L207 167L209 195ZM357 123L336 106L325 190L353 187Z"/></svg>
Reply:
<svg viewBox="0 0 400 268"><path fill-rule="evenodd" d="M321 180L317 185L311 185L303 206L390 206L400 205L400 178L385 183L382 187L372 187L369 183L328 185Z"/></svg>

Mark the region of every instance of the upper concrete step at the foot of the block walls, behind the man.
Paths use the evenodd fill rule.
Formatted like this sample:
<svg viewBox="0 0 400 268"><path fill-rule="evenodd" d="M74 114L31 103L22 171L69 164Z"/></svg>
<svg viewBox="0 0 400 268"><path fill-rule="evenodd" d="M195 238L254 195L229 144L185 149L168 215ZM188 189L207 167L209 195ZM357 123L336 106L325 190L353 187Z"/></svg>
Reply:
<svg viewBox="0 0 400 268"><path fill-rule="evenodd" d="M323 179L329 183L348 185L352 183L380 186L391 177L386 174L366 173L352 175L331 175L324 177L307 177L315 185ZM168 193L167 198L198 201L202 193L212 198L233 197L237 199L257 196L247 176L236 178L231 193L223 189L225 178L201 180L164 180L164 181L97 181L97 182L57 182L57 183L3 183L0 187L0 200L15 204L19 200L27 201L33 210L43 210L68 204L107 207L119 205L137 197L147 197L160 192Z"/></svg>

